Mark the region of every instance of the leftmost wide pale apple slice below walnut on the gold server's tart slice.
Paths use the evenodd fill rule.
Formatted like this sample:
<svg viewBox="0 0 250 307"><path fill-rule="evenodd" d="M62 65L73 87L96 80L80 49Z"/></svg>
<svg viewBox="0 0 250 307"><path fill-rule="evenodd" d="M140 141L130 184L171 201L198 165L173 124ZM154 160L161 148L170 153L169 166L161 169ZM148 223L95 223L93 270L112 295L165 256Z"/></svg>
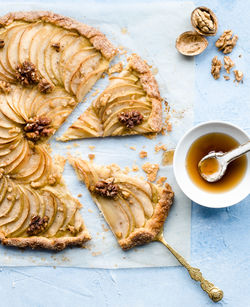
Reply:
<svg viewBox="0 0 250 307"><path fill-rule="evenodd" d="M103 213L105 220L118 239L124 239L129 234L129 219L126 212L115 200L105 199L104 197L94 197L94 200Z"/></svg>

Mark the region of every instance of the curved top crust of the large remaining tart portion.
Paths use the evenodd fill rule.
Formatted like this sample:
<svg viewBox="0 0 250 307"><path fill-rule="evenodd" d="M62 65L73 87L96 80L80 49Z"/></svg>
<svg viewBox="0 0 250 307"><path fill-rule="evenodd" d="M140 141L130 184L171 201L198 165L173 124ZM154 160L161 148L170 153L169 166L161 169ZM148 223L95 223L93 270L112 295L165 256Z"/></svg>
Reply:
<svg viewBox="0 0 250 307"><path fill-rule="evenodd" d="M0 18L0 27L5 27L11 24L13 21L18 20L27 22L36 22L41 20L63 27L67 30L77 31L80 35L87 37L93 46L109 60L112 59L117 53L117 49L99 30L78 22L72 18L49 11L11 12Z"/></svg>

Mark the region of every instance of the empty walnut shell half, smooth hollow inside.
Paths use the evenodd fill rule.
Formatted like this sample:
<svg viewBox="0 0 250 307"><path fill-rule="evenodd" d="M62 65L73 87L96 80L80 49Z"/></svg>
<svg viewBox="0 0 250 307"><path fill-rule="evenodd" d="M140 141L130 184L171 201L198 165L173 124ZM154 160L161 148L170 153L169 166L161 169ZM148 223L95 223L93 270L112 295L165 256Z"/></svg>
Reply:
<svg viewBox="0 0 250 307"><path fill-rule="evenodd" d="M176 49L183 55L194 56L202 53L208 46L208 42L202 35L187 31L176 40Z"/></svg>

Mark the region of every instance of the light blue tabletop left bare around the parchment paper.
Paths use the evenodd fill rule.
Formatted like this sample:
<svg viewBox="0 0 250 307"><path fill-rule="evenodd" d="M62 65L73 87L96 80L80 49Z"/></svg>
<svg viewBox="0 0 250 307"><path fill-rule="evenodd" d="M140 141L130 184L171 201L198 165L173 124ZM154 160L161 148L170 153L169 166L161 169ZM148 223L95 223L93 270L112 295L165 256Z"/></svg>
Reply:
<svg viewBox="0 0 250 307"><path fill-rule="evenodd" d="M215 11L219 33L232 28L239 35L232 58L237 68L245 73L244 84L237 87L232 80L214 81L210 75L210 61L218 53L213 46L215 39L210 38L210 46L196 57L195 122L229 120L250 133L250 2L194 2ZM163 39L167 39L167 34ZM183 76L183 82L185 78L188 76ZM191 261L224 290L224 299L217 303L218 306L250 306L249 203L250 197L238 205L218 210L193 204ZM0 289L0 306L214 305L180 267L129 270L2 268Z"/></svg>

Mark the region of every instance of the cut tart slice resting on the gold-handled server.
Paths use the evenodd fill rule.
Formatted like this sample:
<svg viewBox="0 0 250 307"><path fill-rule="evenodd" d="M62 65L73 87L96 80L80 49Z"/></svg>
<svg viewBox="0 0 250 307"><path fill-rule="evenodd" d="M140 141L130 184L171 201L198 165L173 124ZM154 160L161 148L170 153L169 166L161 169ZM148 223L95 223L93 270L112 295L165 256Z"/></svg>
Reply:
<svg viewBox="0 0 250 307"><path fill-rule="evenodd" d="M162 188L124 175L115 164L97 166L71 156L69 162L123 249L156 239L172 205L170 185Z"/></svg>

